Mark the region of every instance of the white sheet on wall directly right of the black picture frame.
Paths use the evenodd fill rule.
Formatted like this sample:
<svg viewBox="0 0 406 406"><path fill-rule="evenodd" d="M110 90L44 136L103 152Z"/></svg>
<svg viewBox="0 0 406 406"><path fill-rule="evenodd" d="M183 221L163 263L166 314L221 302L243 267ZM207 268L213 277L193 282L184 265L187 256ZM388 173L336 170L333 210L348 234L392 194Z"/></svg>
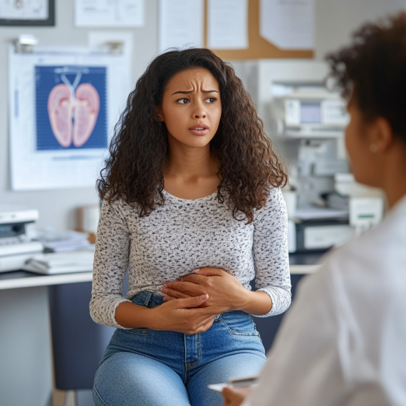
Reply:
<svg viewBox="0 0 406 406"><path fill-rule="evenodd" d="M137 27L144 25L145 0L75 0L78 27Z"/></svg>

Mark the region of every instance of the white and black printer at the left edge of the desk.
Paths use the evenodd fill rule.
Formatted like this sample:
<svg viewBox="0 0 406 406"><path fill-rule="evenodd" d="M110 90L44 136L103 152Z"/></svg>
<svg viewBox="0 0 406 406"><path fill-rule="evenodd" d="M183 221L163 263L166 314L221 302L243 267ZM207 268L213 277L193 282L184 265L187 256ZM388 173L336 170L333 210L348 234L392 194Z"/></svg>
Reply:
<svg viewBox="0 0 406 406"><path fill-rule="evenodd" d="M43 245L32 241L30 227L38 219L38 210L0 205L0 272L22 269Z"/></svg>

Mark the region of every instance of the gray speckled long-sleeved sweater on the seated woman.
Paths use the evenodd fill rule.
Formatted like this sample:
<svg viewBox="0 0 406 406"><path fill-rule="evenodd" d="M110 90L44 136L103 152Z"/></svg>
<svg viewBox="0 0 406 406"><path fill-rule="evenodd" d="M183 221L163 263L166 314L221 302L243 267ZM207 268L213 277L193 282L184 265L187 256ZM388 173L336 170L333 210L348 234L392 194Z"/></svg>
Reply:
<svg viewBox="0 0 406 406"><path fill-rule="evenodd" d="M287 214L280 189L271 189L266 207L246 225L234 219L217 192L202 199L179 199L164 191L165 204L149 217L123 200L103 202L93 269L90 315L96 323L123 328L115 309L140 291L163 296L167 281L203 266L222 268L244 288L256 276L256 288L269 294L271 311L291 304ZM125 270L129 289L123 297ZM264 317L265 317L264 316Z"/></svg>

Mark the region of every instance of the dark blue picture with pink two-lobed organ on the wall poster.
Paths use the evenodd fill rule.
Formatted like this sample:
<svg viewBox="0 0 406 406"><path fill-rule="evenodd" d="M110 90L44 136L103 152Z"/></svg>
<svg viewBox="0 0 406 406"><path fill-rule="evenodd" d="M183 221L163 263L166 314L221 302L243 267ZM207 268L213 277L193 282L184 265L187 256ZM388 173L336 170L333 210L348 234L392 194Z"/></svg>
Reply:
<svg viewBox="0 0 406 406"><path fill-rule="evenodd" d="M36 150L107 147L106 68L36 66Z"/></svg>

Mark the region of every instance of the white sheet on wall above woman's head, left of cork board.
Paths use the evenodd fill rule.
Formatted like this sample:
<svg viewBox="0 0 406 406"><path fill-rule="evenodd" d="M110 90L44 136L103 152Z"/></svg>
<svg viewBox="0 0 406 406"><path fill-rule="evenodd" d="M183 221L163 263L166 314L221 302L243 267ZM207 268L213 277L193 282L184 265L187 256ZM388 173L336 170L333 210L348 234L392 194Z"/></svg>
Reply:
<svg viewBox="0 0 406 406"><path fill-rule="evenodd" d="M160 0L159 51L203 46L204 0Z"/></svg>

